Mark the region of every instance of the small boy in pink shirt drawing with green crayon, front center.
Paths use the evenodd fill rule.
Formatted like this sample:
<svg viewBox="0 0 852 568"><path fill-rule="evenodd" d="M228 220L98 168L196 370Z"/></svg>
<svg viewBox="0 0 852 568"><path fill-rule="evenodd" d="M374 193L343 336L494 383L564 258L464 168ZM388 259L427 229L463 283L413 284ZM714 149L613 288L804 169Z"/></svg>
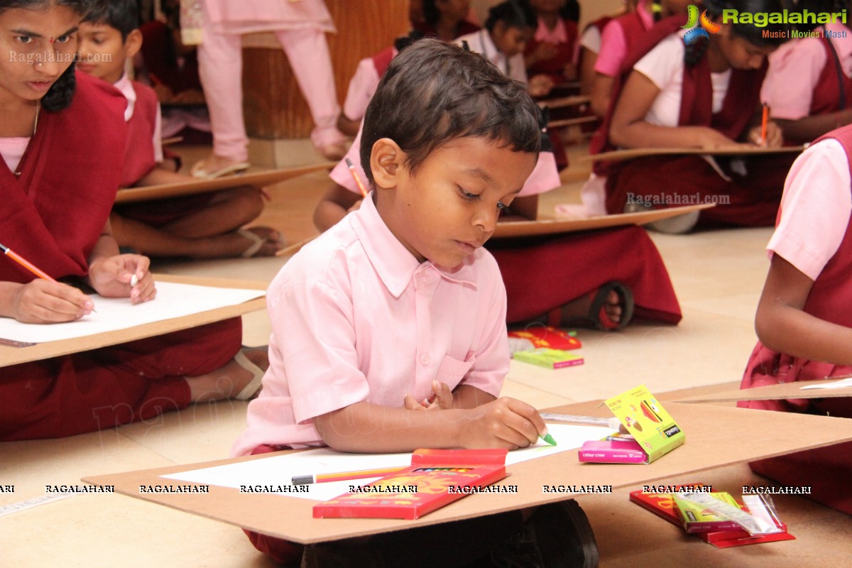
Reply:
<svg viewBox="0 0 852 568"><path fill-rule="evenodd" d="M424 39L391 62L364 133L373 191L270 284L270 368L233 455L534 444L546 432L538 411L498 399L509 369L506 297L481 248L536 163L533 101L480 56ZM530 528L552 531L538 541L538 565L583 565L570 503L314 545L305 565L469 565ZM250 538L279 561L302 554ZM417 564L400 556L412 548Z"/></svg>

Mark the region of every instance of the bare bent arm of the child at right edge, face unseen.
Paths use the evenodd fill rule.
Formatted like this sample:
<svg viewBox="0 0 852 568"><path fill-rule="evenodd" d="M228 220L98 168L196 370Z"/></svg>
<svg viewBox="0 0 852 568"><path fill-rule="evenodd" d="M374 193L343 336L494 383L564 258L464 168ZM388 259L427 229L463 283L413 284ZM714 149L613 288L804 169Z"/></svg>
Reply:
<svg viewBox="0 0 852 568"><path fill-rule="evenodd" d="M773 255L757 304L757 337L766 347L793 357L852 364L852 329L803 312L813 284L790 262Z"/></svg>

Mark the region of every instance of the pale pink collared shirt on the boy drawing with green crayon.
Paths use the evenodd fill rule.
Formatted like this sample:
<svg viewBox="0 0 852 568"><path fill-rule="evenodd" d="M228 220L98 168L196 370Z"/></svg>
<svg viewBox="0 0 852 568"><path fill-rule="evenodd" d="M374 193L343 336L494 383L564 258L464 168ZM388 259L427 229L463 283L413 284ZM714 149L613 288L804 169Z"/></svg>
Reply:
<svg viewBox="0 0 852 568"><path fill-rule="evenodd" d="M498 396L509 370L506 291L490 253L452 270L417 262L372 199L291 258L267 290L260 396L232 455L324 445L313 418L366 401L402 408L437 379Z"/></svg>

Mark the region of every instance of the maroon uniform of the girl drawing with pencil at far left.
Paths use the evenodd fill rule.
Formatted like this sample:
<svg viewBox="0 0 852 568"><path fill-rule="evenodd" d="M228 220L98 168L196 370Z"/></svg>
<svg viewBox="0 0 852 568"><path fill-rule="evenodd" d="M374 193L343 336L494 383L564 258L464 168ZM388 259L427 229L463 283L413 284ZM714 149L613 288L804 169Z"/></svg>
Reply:
<svg viewBox="0 0 852 568"><path fill-rule="evenodd" d="M71 106L41 113L20 178L0 162L3 244L53 278L82 277L121 175L124 97L83 73ZM0 281L33 275L0 259ZM216 370L239 350L239 318L0 367L0 440L56 438L184 408L184 375Z"/></svg>

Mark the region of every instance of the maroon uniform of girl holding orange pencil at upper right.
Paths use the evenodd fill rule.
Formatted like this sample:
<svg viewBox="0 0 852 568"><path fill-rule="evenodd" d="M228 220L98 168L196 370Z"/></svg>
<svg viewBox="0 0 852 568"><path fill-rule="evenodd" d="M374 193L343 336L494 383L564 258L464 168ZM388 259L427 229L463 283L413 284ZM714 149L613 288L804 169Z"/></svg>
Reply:
<svg viewBox="0 0 852 568"><path fill-rule="evenodd" d="M602 131L593 141L595 152L613 149L608 141L614 101L621 94L626 74L636 61L642 59L665 32L675 32L680 16L672 16L653 26L640 38L625 60L625 72L613 95ZM660 37L662 36L662 37ZM745 134L760 99L760 87L766 74L767 63L757 70L731 69L728 91L720 112L712 112L712 85L710 63L705 54L694 66L684 66L682 75L679 126L705 126L718 130L732 140ZM607 133L605 137L602 133ZM784 189L786 172L796 157L791 154L750 157L746 174L729 167L730 160L717 158L730 181L722 178L711 164L699 156L653 156L625 162L599 164L596 173L607 175L607 211L622 213L629 194L647 200L656 199L655 208L675 207L665 199L676 192L694 198L694 203L722 203L701 212L700 226L733 224L746 227L767 227L774 224L775 215ZM721 199L728 200L725 204Z"/></svg>

